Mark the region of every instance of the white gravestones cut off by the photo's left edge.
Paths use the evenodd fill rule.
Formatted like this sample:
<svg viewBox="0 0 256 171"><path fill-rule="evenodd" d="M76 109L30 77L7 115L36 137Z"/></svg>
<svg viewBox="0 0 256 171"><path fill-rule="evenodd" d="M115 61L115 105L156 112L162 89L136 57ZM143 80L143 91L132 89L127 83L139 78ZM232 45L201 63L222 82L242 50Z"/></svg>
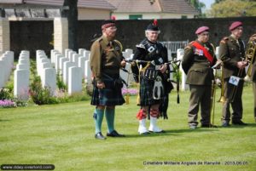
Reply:
<svg viewBox="0 0 256 171"><path fill-rule="evenodd" d="M0 56L0 88L9 80L13 65L14 65L14 52L6 51Z"/></svg>

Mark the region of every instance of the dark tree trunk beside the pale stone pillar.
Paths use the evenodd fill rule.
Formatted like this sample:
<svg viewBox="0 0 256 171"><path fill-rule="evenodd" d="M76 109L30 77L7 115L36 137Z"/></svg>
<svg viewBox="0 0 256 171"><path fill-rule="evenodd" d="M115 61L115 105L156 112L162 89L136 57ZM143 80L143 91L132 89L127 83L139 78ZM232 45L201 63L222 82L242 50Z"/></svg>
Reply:
<svg viewBox="0 0 256 171"><path fill-rule="evenodd" d="M68 48L78 51L78 0L64 0L63 6L69 8L62 11L68 20Z"/></svg>

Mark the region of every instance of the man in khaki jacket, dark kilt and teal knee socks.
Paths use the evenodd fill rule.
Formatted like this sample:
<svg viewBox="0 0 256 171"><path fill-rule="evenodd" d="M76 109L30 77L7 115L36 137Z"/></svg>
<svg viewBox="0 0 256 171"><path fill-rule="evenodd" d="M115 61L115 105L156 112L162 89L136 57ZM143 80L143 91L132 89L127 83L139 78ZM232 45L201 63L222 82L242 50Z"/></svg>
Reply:
<svg viewBox="0 0 256 171"><path fill-rule="evenodd" d="M114 129L115 105L122 105L125 102L121 94L123 83L119 77L119 69L125 66L125 60L122 56L121 44L114 40L116 30L114 20L104 20L102 37L96 39L90 48L90 69L94 83L91 105L96 105L95 138L99 140L106 139L102 135L104 112L108 125L107 136L124 136Z"/></svg>

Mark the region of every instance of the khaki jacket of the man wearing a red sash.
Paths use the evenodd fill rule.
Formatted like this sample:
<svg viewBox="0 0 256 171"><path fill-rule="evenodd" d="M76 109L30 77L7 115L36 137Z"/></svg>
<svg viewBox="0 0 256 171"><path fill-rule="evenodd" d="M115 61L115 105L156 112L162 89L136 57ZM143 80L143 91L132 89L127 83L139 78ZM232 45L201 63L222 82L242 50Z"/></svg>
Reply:
<svg viewBox="0 0 256 171"><path fill-rule="evenodd" d="M195 48L192 43L189 43L184 49L182 61L183 71L187 74L186 83L191 85L212 85L212 80L214 79L212 66L217 61L214 47L211 43L201 43L212 54L213 62L211 64L205 54Z"/></svg>

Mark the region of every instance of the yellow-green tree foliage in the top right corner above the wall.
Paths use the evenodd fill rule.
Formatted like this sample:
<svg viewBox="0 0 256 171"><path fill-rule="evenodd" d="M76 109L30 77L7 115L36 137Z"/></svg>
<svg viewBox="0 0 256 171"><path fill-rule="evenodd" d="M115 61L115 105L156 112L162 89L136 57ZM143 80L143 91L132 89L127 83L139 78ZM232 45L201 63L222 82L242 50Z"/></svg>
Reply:
<svg viewBox="0 0 256 171"><path fill-rule="evenodd" d="M216 3L218 2L218 3ZM207 13L211 17L256 16L255 0L218 0Z"/></svg>

